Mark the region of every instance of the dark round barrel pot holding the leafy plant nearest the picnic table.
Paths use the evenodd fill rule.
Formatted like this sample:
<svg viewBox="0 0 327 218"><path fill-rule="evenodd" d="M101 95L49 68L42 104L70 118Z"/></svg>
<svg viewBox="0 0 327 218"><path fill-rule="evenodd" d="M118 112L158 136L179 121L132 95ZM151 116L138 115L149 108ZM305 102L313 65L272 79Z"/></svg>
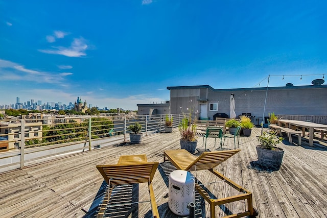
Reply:
<svg viewBox="0 0 327 218"><path fill-rule="evenodd" d="M256 147L256 153L258 154L258 161L263 166L278 168L281 167L284 150L281 148L273 147L276 150L268 150L262 148L262 146Z"/></svg>

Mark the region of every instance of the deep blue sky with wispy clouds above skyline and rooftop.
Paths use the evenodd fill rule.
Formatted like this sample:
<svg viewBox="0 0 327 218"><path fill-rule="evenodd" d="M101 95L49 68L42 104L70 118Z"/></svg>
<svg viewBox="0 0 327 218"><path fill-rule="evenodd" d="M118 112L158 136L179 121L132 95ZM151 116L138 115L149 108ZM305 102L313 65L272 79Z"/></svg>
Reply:
<svg viewBox="0 0 327 218"><path fill-rule="evenodd" d="M80 96L133 110L169 100L167 86L311 85L327 73L326 6L0 0L0 105Z"/></svg>

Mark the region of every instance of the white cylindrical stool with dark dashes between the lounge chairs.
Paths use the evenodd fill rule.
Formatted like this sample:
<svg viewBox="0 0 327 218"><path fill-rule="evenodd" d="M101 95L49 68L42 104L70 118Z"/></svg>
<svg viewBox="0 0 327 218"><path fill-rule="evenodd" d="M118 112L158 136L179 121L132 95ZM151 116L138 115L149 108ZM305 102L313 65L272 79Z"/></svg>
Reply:
<svg viewBox="0 0 327 218"><path fill-rule="evenodd" d="M195 178L188 171L173 171L169 175L169 200L170 210L177 215L189 215L188 204L194 202Z"/></svg>

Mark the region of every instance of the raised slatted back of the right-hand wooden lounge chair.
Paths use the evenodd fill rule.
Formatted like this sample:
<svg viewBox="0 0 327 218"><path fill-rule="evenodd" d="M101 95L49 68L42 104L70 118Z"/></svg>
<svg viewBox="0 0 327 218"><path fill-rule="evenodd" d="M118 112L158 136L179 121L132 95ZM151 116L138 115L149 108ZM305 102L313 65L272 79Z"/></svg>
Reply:
<svg viewBox="0 0 327 218"><path fill-rule="evenodd" d="M212 169L240 152L241 150L227 150L203 152L196 160L194 160L185 170L186 171L201 171L203 169Z"/></svg>

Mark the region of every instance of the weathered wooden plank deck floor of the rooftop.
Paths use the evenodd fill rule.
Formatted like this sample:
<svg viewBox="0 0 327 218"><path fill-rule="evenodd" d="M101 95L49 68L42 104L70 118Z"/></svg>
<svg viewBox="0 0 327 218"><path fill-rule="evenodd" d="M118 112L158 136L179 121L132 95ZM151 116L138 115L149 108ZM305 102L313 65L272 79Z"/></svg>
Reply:
<svg viewBox="0 0 327 218"><path fill-rule="evenodd" d="M258 217L327 217L327 147L302 146L284 140L285 150L279 171L269 171L257 163L256 135L261 129L252 129L251 137L240 137L242 150L217 170L253 193L253 206ZM226 146L227 141L227 146ZM226 139L225 148L233 148L233 139ZM293 142L297 142L296 137ZM219 140L217 145L219 145ZM198 148L202 137L198 137ZM207 148L214 147L214 139L207 139ZM79 153L0 174L1 217L94 217L97 205L106 188L98 172L98 164L115 164L121 155L146 154L148 161L159 161L153 188L160 217L178 217L168 208L168 175L175 168L163 163L165 150L179 149L179 133L157 133L143 137L138 145L108 146ZM218 182L207 171L196 173L198 180L215 196L235 195L235 190ZM217 182L216 182L217 181ZM213 183L215 182L215 183ZM132 190L134 190L132 192ZM138 190L138 191L137 191ZM116 188L114 201L147 201L144 184ZM216 207L216 214L244 210L240 201ZM151 217L150 203L112 207L112 217ZM209 217L208 205L196 196L196 216Z"/></svg>

